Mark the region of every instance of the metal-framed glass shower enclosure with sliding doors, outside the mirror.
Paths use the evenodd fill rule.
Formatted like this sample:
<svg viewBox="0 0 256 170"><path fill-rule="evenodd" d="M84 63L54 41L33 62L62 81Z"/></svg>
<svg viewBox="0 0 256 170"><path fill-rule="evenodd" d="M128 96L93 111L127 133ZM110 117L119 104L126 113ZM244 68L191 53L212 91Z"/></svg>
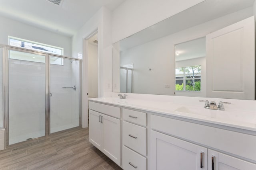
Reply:
<svg viewBox="0 0 256 170"><path fill-rule="evenodd" d="M80 126L80 59L10 46L0 57L6 146Z"/></svg>

